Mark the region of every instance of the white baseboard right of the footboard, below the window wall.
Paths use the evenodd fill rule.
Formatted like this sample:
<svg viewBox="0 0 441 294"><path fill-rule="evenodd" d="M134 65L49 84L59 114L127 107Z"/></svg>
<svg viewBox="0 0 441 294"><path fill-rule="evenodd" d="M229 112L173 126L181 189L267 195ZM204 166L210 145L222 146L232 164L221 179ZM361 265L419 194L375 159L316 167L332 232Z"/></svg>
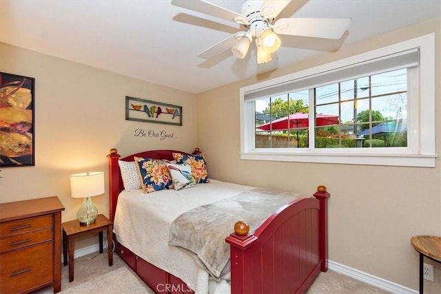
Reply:
<svg viewBox="0 0 441 294"><path fill-rule="evenodd" d="M338 262L333 262L332 260L328 260L328 268L331 271L341 273L342 275L347 275L348 277L352 277L361 282L365 282L366 284L376 286L377 288L383 289L384 291L388 291L390 293L397 293L397 294L418 293L418 291L413 290L411 288L407 288L400 284L396 284L394 282L384 280L381 277L376 277L375 275L371 275L369 273L359 271L358 269L352 269L349 266L339 264Z"/></svg>

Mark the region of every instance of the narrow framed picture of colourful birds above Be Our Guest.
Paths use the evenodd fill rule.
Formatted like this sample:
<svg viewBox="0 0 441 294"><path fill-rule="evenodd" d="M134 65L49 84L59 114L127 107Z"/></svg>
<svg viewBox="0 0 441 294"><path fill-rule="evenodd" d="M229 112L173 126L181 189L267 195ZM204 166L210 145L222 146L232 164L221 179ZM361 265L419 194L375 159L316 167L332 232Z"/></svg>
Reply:
<svg viewBox="0 0 441 294"><path fill-rule="evenodd" d="M182 106L125 96L125 119L182 125Z"/></svg>

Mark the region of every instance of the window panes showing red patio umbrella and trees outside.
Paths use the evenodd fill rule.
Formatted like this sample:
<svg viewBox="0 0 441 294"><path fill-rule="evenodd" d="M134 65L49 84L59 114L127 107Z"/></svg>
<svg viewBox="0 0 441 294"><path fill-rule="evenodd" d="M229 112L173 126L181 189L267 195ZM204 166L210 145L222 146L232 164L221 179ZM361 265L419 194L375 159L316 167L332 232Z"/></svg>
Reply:
<svg viewBox="0 0 441 294"><path fill-rule="evenodd" d="M310 100L316 148L407 147L408 70L257 99L255 147L309 147Z"/></svg>

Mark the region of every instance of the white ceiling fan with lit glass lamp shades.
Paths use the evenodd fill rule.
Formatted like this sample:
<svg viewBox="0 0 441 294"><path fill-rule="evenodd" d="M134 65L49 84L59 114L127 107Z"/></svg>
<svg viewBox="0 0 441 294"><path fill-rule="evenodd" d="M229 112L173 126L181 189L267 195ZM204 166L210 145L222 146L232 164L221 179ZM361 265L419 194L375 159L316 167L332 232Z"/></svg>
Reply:
<svg viewBox="0 0 441 294"><path fill-rule="evenodd" d="M349 18L289 18L276 17L291 0L245 0L240 13L228 10L205 0L172 0L174 6L234 21L247 30L236 32L216 45L199 53L211 59L231 48L234 56L243 59L253 39L257 48L257 63L271 61L271 54L280 48L278 34L306 36L323 39L340 39L351 19Z"/></svg>

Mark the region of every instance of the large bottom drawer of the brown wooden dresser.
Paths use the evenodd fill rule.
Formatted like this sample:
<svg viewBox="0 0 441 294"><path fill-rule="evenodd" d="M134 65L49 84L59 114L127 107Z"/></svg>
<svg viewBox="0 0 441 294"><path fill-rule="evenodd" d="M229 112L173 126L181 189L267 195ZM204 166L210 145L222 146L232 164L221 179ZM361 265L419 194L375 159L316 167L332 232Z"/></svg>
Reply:
<svg viewBox="0 0 441 294"><path fill-rule="evenodd" d="M0 254L1 293L20 293L53 282L53 242Z"/></svg>

